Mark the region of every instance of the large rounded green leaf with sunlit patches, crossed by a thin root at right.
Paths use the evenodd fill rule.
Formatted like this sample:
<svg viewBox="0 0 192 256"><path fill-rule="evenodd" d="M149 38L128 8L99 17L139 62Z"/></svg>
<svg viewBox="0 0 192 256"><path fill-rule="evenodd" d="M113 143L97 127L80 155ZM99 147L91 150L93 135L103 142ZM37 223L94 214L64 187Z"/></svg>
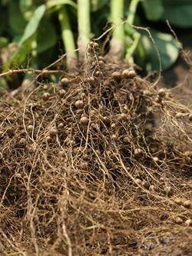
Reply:
<svg viewBox="0 0 192 256"><path fill-rule="evenodd" d="M147 57L147 70L159 70L159 60L157 51L153 42L145 32L142 32L141 42ZM158 52L161 56L161 65L163 69L170 68L176 62L179 55L179 43L172 35L164 34L157 31L151 31L154 42L157 45Z"/></svg>

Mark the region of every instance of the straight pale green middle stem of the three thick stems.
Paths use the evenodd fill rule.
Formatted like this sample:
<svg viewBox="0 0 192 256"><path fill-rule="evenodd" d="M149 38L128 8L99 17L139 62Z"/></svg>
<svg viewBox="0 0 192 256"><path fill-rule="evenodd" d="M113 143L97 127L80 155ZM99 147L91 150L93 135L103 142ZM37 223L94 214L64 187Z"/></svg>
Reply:
<svg viewBox="0 0 192 256"><path fill-rule="evenodd" d="M84 60L85 58L90 34L90 1L78 0L78 48L80 60Z"/></svg>

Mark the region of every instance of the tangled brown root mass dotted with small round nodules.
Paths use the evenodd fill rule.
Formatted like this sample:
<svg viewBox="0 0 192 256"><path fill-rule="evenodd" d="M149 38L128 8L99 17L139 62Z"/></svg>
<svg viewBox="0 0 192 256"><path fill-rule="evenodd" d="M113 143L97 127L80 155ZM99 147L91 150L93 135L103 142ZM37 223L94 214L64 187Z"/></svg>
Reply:
<svg viewBox="0 0 192 256"><path fill-rule="evenodd" d="M1 255L190 255L190 110L126 68L2 97Z"/></svg>

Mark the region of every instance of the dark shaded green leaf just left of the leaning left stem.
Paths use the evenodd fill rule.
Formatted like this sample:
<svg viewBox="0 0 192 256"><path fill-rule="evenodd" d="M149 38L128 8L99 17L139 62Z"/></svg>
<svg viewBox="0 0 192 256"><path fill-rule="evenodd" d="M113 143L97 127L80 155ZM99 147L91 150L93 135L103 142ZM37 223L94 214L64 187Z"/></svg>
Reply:
<svg viewBox="0 0 192 256"><path fill-rule="evenodd" d="M37 52L45 52L48 48L53 47L57 42L55 27L48 20L42 20L37 34Z"/></svg>

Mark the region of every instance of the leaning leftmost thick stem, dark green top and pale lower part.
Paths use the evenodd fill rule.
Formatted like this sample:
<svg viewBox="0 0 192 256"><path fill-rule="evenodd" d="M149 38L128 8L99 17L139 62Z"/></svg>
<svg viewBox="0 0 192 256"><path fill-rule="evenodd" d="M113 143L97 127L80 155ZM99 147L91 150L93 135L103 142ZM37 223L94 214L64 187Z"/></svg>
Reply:
<svg viewBox="0 0 192 256"><path fill-rule="evenodd" d="M75 52L74 35L71 31L71 25L68 18L68 12L65 6L62 6L58 13L59 22L61 25L61 35L67 53L67 66L69 69L74 68L77 62Z"/></svg>

